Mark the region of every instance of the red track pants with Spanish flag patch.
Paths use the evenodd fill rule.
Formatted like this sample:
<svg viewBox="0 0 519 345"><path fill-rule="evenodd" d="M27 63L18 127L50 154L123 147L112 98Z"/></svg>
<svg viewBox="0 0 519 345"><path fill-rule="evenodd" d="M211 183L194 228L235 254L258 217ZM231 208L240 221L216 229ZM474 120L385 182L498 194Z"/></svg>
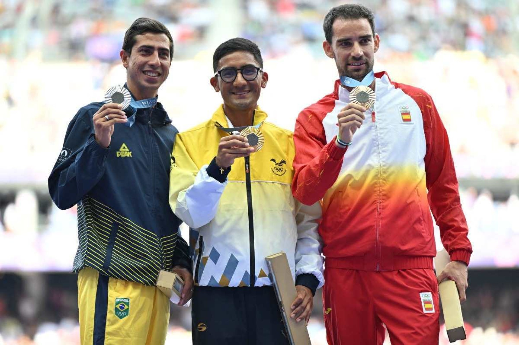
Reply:
<svg viewBox="0 0 519 345"><path fill-rule="evenodd" d="M438 345L438 283L432 269L325 268L324 277L329 344L381 345L385 324L392 345Z"/></svg>

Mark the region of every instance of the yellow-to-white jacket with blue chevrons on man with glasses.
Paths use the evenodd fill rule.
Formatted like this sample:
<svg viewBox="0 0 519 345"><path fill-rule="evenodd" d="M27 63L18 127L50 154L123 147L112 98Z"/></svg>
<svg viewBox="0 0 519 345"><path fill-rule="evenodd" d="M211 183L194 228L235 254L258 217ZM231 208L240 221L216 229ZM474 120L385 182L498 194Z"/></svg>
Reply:
<svg viewBox="0 0 519 345"><path fill-rule="evenodd" d="M190 227L194 279L202 286L271 285L265 256L285 252L293 278L312 274L324 283L321 206L294 199L292 133L269 122L261 109L265 144L261 151L235 160L225 182L207 174L227 121L220 106L211 120L176 136L172 153L169 202ZM251 280L253 277L253 280Z"/></svg>

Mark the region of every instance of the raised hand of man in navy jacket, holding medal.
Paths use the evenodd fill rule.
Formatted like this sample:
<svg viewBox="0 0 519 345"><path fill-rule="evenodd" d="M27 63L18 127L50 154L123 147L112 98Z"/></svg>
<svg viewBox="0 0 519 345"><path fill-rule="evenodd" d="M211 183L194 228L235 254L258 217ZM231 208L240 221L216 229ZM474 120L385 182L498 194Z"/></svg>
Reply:
<svg viewBox="0 0 519 345"><path fill-rule="evenodd" d="M121 105L117 103L103 104L94 114L92 120L94 122L95 141L104 148L110 146L112 134L114 134L114 124L128 121Z"/></svg>

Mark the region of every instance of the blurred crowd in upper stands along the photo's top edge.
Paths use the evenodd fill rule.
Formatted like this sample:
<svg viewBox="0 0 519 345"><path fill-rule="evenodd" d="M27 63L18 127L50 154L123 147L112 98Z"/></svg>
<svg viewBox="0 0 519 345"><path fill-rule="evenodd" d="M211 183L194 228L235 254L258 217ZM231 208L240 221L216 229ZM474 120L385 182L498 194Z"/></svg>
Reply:
<svg viewBox="0 0 519 345"><path fill-rule="evenodd" d="M165 23L178 49L193 57L221 25L218 7L238 10L237 35L256 41L265 57L308 45L320 55L322 19L337 0L73 0L0 2L0 53L42 50L49 60L115 61L124 31L137 17ZM364 0L376 15L389 49L418 58L443 47L478 50L490 57L513 53L517 21L513 0ZM232 8L231 8L232 7ZM229 23L226 23L229 25ZM17 39L15 39L15 37ZM21 38L21 39L20 39ZM516 38L516 36L515 36Z"/></svg>

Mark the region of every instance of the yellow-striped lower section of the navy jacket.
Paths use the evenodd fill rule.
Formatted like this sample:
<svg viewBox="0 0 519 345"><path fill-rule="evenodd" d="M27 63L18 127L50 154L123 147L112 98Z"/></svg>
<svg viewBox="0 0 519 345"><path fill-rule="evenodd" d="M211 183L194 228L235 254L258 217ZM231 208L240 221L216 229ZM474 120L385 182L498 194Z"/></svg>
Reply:
<svg viewBox="0 0 519 345"><path fill-rule="evenodd" d="M176 233L158 238L89 196L78 204L79 246L73 271L88 266L117 279L155 285L170 267Z"/></svg>

